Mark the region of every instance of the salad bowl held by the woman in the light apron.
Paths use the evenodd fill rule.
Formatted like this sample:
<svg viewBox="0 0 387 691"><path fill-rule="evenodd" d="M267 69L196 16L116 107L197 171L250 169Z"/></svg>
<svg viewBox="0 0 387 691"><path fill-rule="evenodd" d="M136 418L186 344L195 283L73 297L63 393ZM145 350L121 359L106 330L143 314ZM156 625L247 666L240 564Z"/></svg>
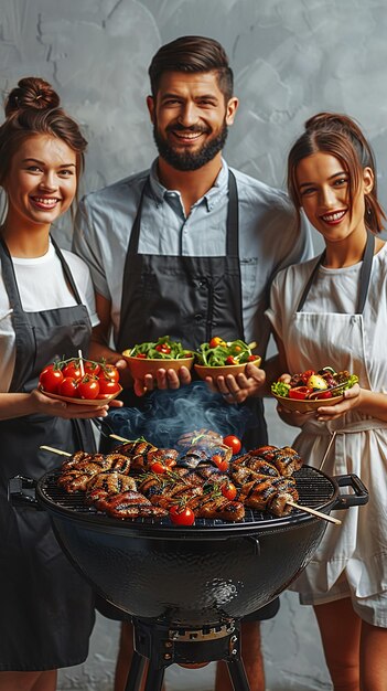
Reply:
<svg viewBox="0 0 387 691"><path fill-rule="evenodd" d="M325 366L293 374L289 383L273 382L271 393L284 410L308 413L322 405L340 403L344 391L357 382L356 374L350 374L346 370L336 372Z"/></svg>

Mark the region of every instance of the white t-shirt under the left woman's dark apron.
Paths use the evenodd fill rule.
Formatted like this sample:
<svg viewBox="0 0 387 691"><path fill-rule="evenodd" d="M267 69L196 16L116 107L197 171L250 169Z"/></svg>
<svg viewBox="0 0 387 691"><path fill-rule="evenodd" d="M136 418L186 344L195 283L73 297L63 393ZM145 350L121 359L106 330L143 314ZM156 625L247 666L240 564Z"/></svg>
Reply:
<svg viewBox="0 0 387 691"><path fill-rule="evenodd" d="M68 264L82 302L86 306L92 326L99 320L96 313L93 283L87 265L72 252L62 249ZM37 312L60 307L72 307L76 300L64 278L62 264L54 246L42 257L12 258L18 288L24 311ZM1 262L0 262L1 268ZM0 392L8 392L12 381L15 361L15 337L12 326L12 310L0 275Z"/></svg>

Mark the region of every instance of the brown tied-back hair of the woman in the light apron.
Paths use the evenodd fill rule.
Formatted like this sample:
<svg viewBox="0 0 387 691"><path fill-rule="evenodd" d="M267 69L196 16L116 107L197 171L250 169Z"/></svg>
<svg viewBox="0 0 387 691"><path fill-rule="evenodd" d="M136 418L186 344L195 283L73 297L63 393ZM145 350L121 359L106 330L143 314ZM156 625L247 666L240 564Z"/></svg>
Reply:
<svg viewBox="0 0 387 691"><path fill-rule="evenodd" d="M302 159L318 151L337 158L350 173L350 199L356 195L363 171L370 168L374 173L373 190L365 195L364 221L374 233L383 231L386 215L377 200L376 163L370 145L358 125L340 113L319 113L305 123L305 131L293 143L288 156L288 190L300 216L301 200L297 184L297 167Z"/></svg>

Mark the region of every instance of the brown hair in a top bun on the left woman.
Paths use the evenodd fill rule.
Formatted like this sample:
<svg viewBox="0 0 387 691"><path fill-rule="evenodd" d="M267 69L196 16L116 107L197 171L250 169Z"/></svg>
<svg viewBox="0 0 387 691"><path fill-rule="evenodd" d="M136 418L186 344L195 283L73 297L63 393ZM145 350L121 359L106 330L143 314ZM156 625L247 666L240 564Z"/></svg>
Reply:
<svg viewBox="0 0 387 691"><path fill-rule="evenodd" d="M84 169L87 141L79 126L60 105L51 84L39 77L24 77L6 102L6 120L0 126L0 185L3 185L20 143L33 135L62 139L76 156L77 180Z"/></svg>

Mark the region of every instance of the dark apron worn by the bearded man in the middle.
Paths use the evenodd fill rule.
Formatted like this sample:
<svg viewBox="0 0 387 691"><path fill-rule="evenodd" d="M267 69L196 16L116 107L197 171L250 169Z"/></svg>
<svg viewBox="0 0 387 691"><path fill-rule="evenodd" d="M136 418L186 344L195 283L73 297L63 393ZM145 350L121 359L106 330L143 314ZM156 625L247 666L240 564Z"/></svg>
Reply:
<svg viewBox="0 0 387 691"><path fill-rule="evenodd" d="M165 333L193 349L209 341L213 336L219 336L226 341L245 338L238 192L235 176L230 171L228 190L226 256L139 254L143 198L152 193L150 181L147 180L131 230L123 270L120 329L116 343L119 352L136 343L155 341ZM147 405L147 396L142 400L132 392L126 392L123 400L126 405L140 410ZM213 402L215 400L219 407L229 406L217 394L214 394ZM254 415L254 426L246 430L244 445L254 448L267 444L261 398L248 398L243 406L248 407Z"/></svg>

